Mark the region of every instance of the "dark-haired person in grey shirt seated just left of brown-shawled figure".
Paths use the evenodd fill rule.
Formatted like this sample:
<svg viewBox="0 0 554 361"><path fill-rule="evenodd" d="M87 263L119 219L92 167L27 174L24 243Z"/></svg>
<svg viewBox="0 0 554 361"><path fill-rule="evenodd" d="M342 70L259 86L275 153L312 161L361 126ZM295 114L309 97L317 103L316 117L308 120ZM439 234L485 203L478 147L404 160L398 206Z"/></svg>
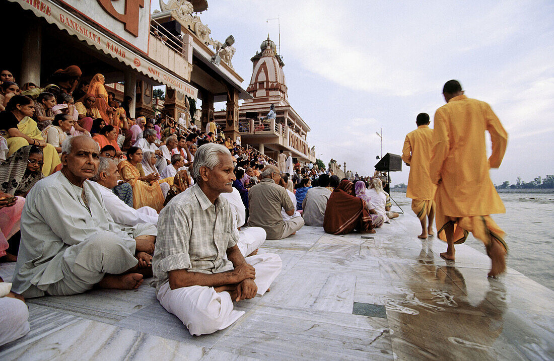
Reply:
<svg viewBox="0 0 554 361"><path fill-rule="evenodd" d="M332 193L326 188L329 185L330 177L327 174L321 174L317 182L318 187L308 189L306 198L302 201L302 209L304 209L302 218L306 225L322 227L327 201Z"/></svg>

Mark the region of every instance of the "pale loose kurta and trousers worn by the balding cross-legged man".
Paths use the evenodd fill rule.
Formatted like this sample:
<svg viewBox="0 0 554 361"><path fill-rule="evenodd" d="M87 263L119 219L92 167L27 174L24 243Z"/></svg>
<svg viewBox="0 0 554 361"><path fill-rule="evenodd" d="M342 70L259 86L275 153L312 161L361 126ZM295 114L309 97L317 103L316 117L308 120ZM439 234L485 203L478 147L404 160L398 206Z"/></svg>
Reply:
<svg viewBox="0 0 554 361"><path fill-rule="evenodd" d="M81 196L83 189L88 207ZM99 247L111 252L114 260L109 261L114 264L106 266L86 254ZM27 195L12 290L26 298L44 296L50 285L69 279L74 268L68 269L68 265L79 265L84 270L81 277L88 278L68 281L79 282L72 285L74 293L84 292L104 277L95 272L98 267L120 274L135 266L135 247L135 240L106 212L102 195L92 182L85 181L80 188L56 172L38 181Z"/></svg>

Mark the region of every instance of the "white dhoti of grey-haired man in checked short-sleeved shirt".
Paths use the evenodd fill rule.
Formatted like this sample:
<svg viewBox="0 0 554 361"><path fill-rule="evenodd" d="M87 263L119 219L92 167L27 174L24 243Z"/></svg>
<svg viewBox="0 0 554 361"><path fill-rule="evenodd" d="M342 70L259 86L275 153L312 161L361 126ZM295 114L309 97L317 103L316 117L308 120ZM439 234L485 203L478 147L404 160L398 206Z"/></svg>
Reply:
<svg viewBox="0 0 554 361"><path fill-rule="evenodd" d="M281 257L265 253L245 259L256 270L254 282L258 286L257 295L262 296L281 271ZM160 287L157 298L160 305L175 314L193 336L227 328L244 314L244 311L233 310L229 292L216 292L213 287L190 286L171 290L166 282Z"/></svg>

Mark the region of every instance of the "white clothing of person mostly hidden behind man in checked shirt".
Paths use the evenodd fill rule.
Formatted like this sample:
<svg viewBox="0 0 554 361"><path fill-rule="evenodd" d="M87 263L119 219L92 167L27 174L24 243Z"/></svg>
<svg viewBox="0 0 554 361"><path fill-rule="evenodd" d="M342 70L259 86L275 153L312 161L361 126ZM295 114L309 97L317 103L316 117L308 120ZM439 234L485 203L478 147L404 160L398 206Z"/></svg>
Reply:
<svg viewBox="0 0 554 361"><path fill-rule="evenodd" d="M239 231L239 246L240 253L244 257L257 254L258 248L265 241L265 230L260 227L247 227L240 229L246 222L246 208L242 198L240 198L239 190L233 187L233 192L222 193L220 197L227 199L233 213L233 224Z"/></svg>

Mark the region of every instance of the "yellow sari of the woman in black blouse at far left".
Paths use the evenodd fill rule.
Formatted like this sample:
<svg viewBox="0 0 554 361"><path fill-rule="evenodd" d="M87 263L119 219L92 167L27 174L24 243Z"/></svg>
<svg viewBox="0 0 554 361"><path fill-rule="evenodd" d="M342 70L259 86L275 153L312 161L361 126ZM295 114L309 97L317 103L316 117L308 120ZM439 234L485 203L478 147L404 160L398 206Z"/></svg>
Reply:
<svg viewBox="0 0 554 361"><path fill-rule="evenodd" d="M35 122L30 117L24 117L17 125L17 128L20 132L22 132L24 135L43 141L44 138L42 137L42 134L40 133L40 130L37 127L37 122ZM8 142L8 156L11 156L13 153L15 153L19 148L25 147L29 145L29 142L23 138L23 137L10 137L7 132L4 134L4 138L6 138L6 141ZM56 151L56 148L54 148L53 145L48 144L42 148L42 152L44 154L44 165L42 166L42 174L44 174L45 177L48 177L50 174L54 172L54 168L57 167L60 162L60 157L58 156L58 152Z"/></svg>

